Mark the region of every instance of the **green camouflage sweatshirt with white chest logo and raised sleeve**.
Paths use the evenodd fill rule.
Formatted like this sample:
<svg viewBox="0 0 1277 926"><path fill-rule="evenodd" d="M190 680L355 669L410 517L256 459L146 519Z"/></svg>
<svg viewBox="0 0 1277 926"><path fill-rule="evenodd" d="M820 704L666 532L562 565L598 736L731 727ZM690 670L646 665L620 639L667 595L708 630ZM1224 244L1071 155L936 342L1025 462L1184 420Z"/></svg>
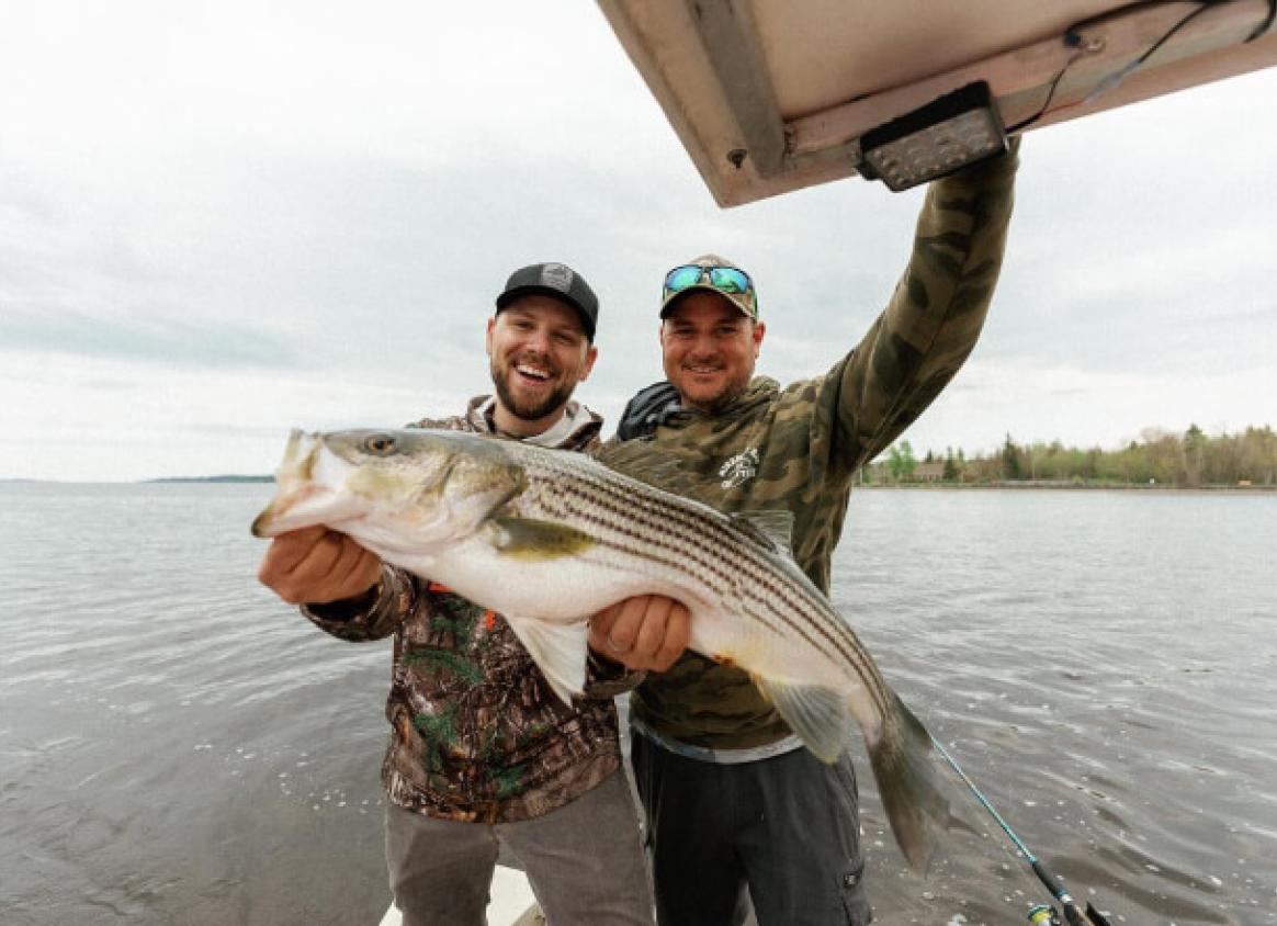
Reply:
<svg viewBox="0 0 1277 926"><path fill-rule="evenodd" d="M825 376L784 390L756 378L714 416L679 407L668 386L663 402L654 387L631 402L618 437L646 442L653 461L678 460L701 501L720 511L788 508L794 557L827 593L852 476L931 404L979 336L1002 262L1018 147L931 184L890 303ZM630 704L653 733L691 746L746 750L789 736L744 672L691 651L650 674Z"/></svg>

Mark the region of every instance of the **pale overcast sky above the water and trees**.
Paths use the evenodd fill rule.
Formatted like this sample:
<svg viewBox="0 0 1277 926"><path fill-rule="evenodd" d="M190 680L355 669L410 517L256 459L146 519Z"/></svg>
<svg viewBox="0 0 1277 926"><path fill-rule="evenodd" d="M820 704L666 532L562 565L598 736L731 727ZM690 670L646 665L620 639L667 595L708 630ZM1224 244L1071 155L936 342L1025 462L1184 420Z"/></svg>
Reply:
<svg viewBox="0 0 1277 926"><path fill-rule="evenodd" d="M589 4L4 3L0 478L267 473L289 428L488 391L515 267L601 299L578 397L660 378L670 266L757 281L760 372L826 369L921 193L719 209ZM972 359L908 432L968 455L1277 424L1277 70L1043 129ZM610 430L610 428L609 428Z"/></svg>

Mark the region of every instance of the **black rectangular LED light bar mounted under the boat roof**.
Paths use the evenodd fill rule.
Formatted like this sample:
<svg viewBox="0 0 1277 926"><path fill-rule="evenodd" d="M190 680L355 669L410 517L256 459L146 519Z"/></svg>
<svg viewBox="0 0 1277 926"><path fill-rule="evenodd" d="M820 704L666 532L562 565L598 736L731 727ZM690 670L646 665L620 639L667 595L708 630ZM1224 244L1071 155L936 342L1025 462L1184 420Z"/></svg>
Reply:
<svg viewBox="0 0 1277 926"><path fill-rule="evenodd" d="M857 170L899 192L1004 151L1002 120L988 84L977 80L866 132Z"/></svg>

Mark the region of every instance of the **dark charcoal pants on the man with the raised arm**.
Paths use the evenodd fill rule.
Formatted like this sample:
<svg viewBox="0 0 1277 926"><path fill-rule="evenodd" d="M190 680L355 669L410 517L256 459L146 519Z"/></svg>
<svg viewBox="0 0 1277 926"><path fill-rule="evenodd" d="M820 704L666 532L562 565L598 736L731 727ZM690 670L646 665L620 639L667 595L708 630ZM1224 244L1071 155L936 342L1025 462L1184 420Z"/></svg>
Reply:
<svg viewBox="0 0 1277 926"><path fill-rule="evenodd" d="M807 750L738 765L677 755L632 731L660 926L870 922L856 773Z"/></svg>

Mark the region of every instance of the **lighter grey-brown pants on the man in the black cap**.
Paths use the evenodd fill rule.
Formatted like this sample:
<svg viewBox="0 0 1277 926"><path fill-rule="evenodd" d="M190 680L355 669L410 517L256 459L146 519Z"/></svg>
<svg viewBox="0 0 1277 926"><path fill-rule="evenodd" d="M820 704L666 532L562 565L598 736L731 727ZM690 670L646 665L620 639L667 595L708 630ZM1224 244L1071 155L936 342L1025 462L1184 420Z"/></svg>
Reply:
<svg viewBox="0 0 1277 926"><path fill-rule="evenodd" d="M404 926L484 926L497 854L520 862L550 926L650 926L653 898L630 784L617 771L534 820L386 811L386 862Z"/></svg>

